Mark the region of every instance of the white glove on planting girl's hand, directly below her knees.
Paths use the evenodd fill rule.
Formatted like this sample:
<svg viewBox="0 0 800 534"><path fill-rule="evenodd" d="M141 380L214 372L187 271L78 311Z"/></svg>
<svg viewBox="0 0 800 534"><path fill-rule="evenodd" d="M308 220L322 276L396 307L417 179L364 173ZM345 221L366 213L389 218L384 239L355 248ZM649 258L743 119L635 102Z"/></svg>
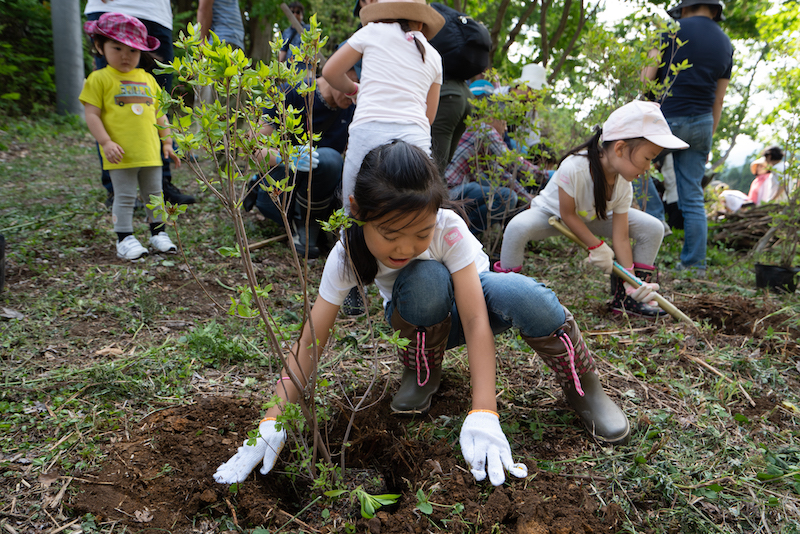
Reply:
<svg viewBox="0 0 800 534"><path fill-rule="evenodd" d="M494 412L470 412L461 426L459 443L461 454L478 482L486 478L487 472L493 486L505 482L505 471L517 478L528 476L528 466L512 460L511 447L500 428L500 417Z"/></svg>

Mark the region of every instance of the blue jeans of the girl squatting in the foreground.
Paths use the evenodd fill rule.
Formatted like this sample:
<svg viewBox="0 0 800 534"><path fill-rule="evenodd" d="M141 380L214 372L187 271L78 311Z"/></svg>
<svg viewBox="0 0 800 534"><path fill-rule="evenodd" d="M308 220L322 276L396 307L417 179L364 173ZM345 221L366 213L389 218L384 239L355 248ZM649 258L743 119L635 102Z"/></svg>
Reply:
<svg viewBox="0 0 800 534"><path fill-rule="evenodd" d="M497 335L517 328L523 336L544 337L559 329L566 319L558 297L544 284L517 273L480 273L489 324ZM433 326L452 314L447 340L451 349L466 343L459 320L450 271L435 260L416 260L403 268L386 305L386 320L391 322L395 308L411 324Z"/></svg>

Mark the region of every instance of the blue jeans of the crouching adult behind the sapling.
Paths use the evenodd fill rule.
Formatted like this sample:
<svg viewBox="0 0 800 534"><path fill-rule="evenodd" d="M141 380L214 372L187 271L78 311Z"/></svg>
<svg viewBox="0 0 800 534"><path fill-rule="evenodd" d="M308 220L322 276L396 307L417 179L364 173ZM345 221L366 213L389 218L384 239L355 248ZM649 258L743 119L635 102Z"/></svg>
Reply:
<svg viewBox="0 0 800 534"><path fill-rule="evenodd" d="M342 185L342 155L336 150L328 147L316 149L319 155L319 165L314 169L311 183L311 202L317 205L324 204L325 200L338 198L337 191ZM270 176L275 180L286 178L286 167L278 165L270 172ZM305 198L308 191L308 173L297 171L295 188L293 195L300 195ZM294 198L294 197L293 197ZM256 207L264 217L272 219L278 224L283 224L281 210L272 202L269 194L263 189L258 189L258 200ZM291 218L292 207L289 206L289 216Z"/></svg>

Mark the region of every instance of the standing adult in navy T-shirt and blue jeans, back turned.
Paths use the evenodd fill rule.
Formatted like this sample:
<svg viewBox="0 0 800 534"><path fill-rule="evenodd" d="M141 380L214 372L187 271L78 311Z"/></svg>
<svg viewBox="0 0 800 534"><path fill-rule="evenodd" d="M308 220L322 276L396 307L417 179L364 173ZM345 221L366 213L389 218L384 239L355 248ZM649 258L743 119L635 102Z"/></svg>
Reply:
<svg viewBox="0 0 800 534"><path fill-rule="evenodd" d="M722 20L719 0L683 0L668 13L679 21L677 38L685 44L676 50L675 42L664 35L663 40L668 46L661 52L663 66L649 67L643 76L663 81L669 73L670 63L687 60L692 65L675 77L663 99L661 111L672 133L689 143L688 149L672 154L678 207L683 215L685 231L676 269L691 269L695 275L703 277L708 228L702 182L714 131L722 114L722 101L730 82L733 47L717 24ZM653 57L658 54L658 50L651 52ZM651 203L657 209L659 202L652 182L649 188L648 212L652 209ZM656 214L651 212L651 215Z"/></svg>

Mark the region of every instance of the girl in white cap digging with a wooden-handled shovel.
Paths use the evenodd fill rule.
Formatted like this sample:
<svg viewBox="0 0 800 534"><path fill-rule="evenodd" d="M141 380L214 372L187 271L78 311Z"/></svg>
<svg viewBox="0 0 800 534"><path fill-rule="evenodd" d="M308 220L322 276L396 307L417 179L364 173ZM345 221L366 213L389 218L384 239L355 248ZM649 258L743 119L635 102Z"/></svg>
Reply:
<svg viewBox="0 0 800 534"><path fill-rule="evenodd" d="M687 147L672 135L658 104L637 100L617 109L602 129L567 153L542 193L531 202L531 209L511 219L495 270L519 272L528 241L559 235L548 223L557 215L589 247L589 263L610 274L616 256L623 267L645 281L634 289L612 274L613 311L663 315L654 302L647 301L658 289L658 284L649 280L664 228L655 217L630 209L631 182L647 172L662 149ZM614 249L596 235L612 238Z"/></svg>

